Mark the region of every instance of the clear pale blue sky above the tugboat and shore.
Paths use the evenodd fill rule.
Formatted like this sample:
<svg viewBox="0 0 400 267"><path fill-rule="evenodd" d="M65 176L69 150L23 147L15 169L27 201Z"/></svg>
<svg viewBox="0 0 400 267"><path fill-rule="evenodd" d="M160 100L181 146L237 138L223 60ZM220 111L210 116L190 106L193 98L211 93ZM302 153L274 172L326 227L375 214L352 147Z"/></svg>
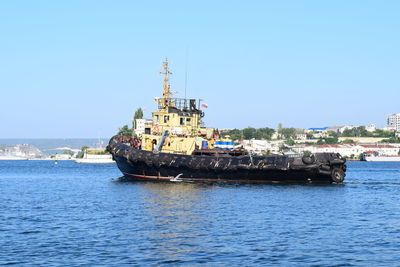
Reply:
<svg viewBox="0 0 400 267"><path fill-rule="evenodd" d="M210 127L384 126L400 1L0 1L0 138L108 137L171 87Z"/></svg>

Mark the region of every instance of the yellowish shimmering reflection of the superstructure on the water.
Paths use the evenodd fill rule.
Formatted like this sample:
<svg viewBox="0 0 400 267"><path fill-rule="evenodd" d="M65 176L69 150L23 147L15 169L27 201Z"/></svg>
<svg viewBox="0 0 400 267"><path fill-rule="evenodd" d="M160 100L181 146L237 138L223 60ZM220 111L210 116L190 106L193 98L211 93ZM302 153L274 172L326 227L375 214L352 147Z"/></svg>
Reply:
<svg viewBox="0 0 400 267"><path fill-rule="evenodd" d="M148 192L145 205L157 228L150 236L159 247L157 253L171 262L186 258L188 253L201 253L195 244L203 243L196 239L205 234L202 210L206 207L200 199L207 188L187 183L145 183L143 190Z"/></svg>

